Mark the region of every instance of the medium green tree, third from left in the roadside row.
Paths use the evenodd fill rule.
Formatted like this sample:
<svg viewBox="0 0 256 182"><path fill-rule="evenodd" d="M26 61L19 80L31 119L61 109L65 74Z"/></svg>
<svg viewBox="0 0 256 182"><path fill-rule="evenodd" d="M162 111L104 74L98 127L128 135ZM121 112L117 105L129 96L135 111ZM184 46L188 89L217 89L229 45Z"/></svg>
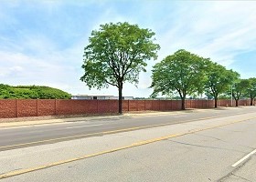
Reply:
<svg viewBox="0 0 256 182"><path fill-rule="evenodd" d="M239 77L237 72L227 70L224 66L211 61L208 62L208 81L205 85L207 95L214 97L215 107L217 107L219 94L227 92L230 85Z"/></svg>

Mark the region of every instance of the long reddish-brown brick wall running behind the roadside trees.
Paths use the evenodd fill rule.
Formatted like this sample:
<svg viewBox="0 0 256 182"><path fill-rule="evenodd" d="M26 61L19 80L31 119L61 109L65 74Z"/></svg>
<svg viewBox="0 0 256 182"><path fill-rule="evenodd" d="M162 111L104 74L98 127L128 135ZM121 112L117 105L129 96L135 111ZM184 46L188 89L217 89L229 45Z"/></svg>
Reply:
<svg viewBox="0 0 256 182"><path fill-rule="evenodd" d="M213 100L186 100L186 108L213 108ZM219 100L218 106L230 106L230 100ZM233 106L236 105L235 100ZM240 100L239 106L250 106L250 100ZM123 100L123 112L180 110L180 100ZM55 100L1 99L0 118L23 116L59 116L117 113L118 100Z"/></svg>

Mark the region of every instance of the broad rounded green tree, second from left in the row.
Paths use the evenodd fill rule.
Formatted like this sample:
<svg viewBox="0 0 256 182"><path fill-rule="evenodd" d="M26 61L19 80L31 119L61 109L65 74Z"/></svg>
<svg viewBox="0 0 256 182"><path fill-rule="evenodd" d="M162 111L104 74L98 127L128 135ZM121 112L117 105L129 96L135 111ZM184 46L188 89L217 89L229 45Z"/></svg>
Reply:
<svg viewBox="0 0 256 182"><path fill-rule="evenodd" d="M205 66L207 59L191 54L184 49L174 55L166 56L153 67L152 96L158 93L171 95L177 93L181 100L181 109L185 109L187 95L202 93L206 81Z"/></svg>

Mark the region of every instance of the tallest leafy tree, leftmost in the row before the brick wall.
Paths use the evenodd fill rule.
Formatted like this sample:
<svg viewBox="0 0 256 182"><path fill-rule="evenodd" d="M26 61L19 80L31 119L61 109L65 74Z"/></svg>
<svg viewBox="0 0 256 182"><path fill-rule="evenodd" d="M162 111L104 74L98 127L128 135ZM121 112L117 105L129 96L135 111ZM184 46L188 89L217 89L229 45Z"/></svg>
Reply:
<svg viewBox="0 0 256 182"><path fill-rule="evenodd" d="M84 48L85 72L80 77L87 86L116 86L119 94L119 113L122 114L123 84L138 83L139 73L146 71L146 60L155 58L160 46L149 29L128 23L105 24L94 30L89 45Z"/></svg>

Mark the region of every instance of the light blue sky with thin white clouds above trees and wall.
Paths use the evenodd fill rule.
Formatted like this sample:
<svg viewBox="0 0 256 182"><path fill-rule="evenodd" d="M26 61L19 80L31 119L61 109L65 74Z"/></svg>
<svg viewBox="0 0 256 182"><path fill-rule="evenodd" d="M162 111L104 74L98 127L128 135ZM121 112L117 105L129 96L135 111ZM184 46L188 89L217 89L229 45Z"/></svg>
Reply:
<svg viewBox="0 0 256 182"><path fill-rule="evenodd" d="M255 9L253 1L1 0L0 83L117 96L112 86L89 90L80 66L91 31L124 21L152 29L161 46L138 87L124 85L124 96L150 96L152 66L180 48L256 77Z"/></svg>

